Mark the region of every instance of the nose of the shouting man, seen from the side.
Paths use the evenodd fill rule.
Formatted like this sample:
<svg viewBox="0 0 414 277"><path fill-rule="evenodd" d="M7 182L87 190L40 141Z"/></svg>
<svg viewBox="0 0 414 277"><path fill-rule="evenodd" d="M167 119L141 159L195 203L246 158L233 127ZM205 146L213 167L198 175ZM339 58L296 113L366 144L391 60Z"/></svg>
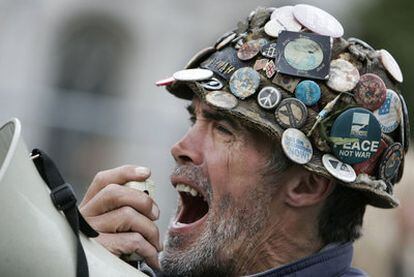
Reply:
<svg viewBox="0 0 414 277"><path fill-rule="evenodd" d="M192 163L201 165L203 163L203 136L196 125L192 126L187 133L171 148L171 154L175 161L184 165Z"/></svg>

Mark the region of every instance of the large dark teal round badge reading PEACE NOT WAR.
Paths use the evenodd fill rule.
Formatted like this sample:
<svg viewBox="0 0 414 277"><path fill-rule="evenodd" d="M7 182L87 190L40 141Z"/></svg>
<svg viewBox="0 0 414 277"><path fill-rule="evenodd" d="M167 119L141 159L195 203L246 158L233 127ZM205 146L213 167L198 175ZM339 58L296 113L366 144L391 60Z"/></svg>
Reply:
<svg viewBox="0 0 414 277"><path fill-rule="evenodd" d="M332 152L339 160L348 164L362 163L378 151L381 126L369 110L348 109L335 119L330 139Z"/></svg>

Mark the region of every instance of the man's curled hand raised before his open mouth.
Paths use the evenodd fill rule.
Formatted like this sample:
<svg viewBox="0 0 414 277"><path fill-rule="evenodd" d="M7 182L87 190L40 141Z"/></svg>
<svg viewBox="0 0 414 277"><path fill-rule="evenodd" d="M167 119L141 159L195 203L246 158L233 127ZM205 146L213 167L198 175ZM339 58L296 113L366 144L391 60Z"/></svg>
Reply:
<svg viewBox="0 0 414 277"><path fill-rule="evenodd" d="M137 253L149 266L159 268L162 244L153 222L160 214L158 206L146 193L123 186L130 181L145 181L150 175L148 168L132 165L99 172L80 211L99 232L96 240L106 249L117 256Z"/></svg>

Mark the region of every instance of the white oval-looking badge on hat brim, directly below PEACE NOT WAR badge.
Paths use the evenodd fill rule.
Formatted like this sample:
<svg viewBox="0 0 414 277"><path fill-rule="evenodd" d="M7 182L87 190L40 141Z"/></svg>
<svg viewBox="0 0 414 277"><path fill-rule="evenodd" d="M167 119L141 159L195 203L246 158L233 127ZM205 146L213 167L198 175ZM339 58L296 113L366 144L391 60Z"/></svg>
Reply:
<svg viewBox="0 0 414 277"><path fill-rule="evenodd" d="M331 154L322 156L322 164L332 176L345 183L352 183L356 180L356 173L352 166L341 162Z"/></svg>

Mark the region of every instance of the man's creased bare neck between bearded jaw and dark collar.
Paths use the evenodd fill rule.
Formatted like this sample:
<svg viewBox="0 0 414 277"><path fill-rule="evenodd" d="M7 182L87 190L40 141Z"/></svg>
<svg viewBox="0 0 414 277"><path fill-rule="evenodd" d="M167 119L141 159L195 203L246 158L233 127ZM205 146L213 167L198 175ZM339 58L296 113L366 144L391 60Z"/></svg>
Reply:
<svg viewBox="0 0 414 277"><path fill-rule="evenodd" d="M237 275L263 272L318 252L323 244L308 216L287 213L268 224L242 253Z"/></svg>

